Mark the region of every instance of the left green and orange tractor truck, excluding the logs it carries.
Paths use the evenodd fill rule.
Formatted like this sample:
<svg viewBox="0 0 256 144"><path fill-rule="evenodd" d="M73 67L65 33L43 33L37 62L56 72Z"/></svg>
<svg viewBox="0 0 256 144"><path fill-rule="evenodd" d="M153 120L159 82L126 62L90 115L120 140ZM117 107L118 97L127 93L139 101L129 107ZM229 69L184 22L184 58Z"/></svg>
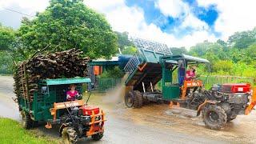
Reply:
<svg viewBox="0 0 256 144"><path fill-rule="evenodd" d="M66 100L70 84L76 86L78 95L74 101ZM22 126L29 129L38 122L46 128L60 126L59 135L64 143L76 143L78 138L90 137L99 140L103 136L105 114L98 106L88 106L82 94L90 88L90 78L45 79L38 83L32 102L18 97L22 114ZM90 96L89 96L90 97Z"/></svg>

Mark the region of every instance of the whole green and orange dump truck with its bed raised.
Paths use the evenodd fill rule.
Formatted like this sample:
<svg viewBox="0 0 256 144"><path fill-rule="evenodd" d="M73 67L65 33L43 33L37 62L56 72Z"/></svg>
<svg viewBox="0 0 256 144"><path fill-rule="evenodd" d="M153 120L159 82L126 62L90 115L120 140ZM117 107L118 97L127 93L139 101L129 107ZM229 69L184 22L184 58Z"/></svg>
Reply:
<svg viewBox="0 0 256 144"><path fill-rule="evenodd" d="M125 66L127 107L139 108L147 102L170 102L202 113L206 127L220 130L238 114L249 114L255 105L256 90L247 83L214 85L206 90L200 78L184 80L188 66L204 64L204 58L172 54L162 43L133 38L138 54ZM176 74L176 75L175 75ZM174 81L178 78L178 81ZM161 91L156 90L158 82Z"/></svg>

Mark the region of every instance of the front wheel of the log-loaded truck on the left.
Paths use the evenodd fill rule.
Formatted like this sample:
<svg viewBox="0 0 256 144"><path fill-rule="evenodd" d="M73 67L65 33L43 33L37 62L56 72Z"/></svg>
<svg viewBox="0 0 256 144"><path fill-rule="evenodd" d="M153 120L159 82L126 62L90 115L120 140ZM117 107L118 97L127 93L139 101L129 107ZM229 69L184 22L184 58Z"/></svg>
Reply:
<svg viewBox="0 0 256 144"><path fill-rule="evenodd" d="M78 134L72 127L65 127L62 130L62 139L64 144L74 144L78 142Z"/></svg>

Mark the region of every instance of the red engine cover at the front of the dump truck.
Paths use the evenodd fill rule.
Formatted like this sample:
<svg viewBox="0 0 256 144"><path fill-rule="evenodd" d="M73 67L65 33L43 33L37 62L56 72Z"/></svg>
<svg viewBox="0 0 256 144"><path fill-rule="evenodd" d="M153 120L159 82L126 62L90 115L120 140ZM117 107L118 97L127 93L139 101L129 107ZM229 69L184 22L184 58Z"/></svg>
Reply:
<svg viewBox="0 0 256 144"><path fill-rule="evenodd" d="M222 85L222 92L223 93L247 93L250 92L250 84L248 83L236 83L230 84L226 83Z"/></svg>

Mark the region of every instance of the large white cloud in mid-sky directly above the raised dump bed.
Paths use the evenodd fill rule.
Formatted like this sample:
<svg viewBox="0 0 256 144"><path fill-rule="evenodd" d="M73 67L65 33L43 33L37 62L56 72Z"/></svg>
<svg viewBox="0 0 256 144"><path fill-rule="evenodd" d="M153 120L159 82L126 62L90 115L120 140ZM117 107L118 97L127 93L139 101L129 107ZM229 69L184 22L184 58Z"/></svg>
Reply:
<svg viewBox="0 0 256 144"><path fill-rule="evenodd" d="M164 2L164 1L162 1ZM158 2L161 6L162 2ZM160 28L153 23L146 24L143 10L137 6L128 7L123 0L114 0L114 2L106 2L101 0L87 0L85 4L90 6L94 10L101 12L106 15L106 19L110 22L114 30L117 31L128 31L130 35L146 38L149 40L154 40L157 42L166 43L168 46L194 46L197 42L202 42L204 40L214 41L213 34L209 34L207 30L209 27L205 22L200 21L193 14L190 14L190 10L185 3L181 1L176 1L174 5L180 5L182 8L178 8L180 12L167 12L166 14L174 14L178 16L183 15L183 22L181 26L178 26L176 30L185 29L190 26L195 31L191 34L186 35L183 38L175 38L174 34L167 34L162 32ZM157 4L156 4L157 5ZM167 6L167 5L166 5ZM182 12L185 10L186 12Z"/></svg>

